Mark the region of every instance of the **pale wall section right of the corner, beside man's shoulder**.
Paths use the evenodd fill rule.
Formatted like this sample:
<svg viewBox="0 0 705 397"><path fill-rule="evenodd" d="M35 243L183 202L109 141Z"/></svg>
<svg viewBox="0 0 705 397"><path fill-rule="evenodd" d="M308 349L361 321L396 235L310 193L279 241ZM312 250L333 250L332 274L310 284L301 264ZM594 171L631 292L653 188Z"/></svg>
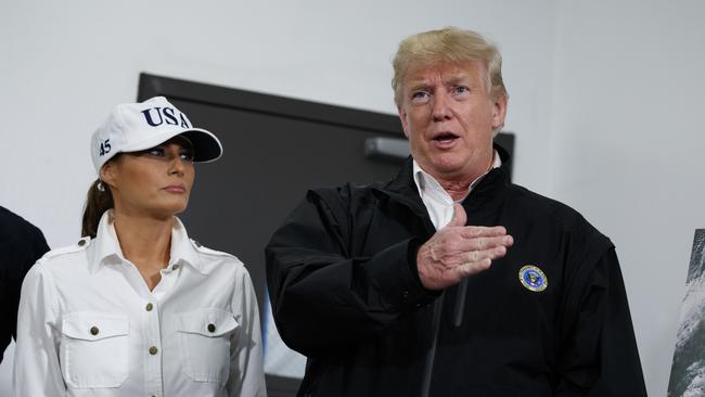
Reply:
<svg viewBox="0 0 705 397"><path fill-rule="evenodd" d="M550 180L617 246L646 386L665 396L705 227L705 2L560 2Z"/></svg>

